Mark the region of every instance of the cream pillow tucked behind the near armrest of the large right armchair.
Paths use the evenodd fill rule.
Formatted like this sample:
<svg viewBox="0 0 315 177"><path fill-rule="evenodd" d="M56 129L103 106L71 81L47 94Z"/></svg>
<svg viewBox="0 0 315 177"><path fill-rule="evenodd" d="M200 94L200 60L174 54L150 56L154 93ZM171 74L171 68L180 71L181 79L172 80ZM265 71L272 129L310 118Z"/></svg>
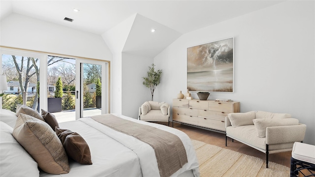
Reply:
<svg viewBox="0 0 315 177"><path fill-rule="evenodd" d="M299 120L296 118L255 118L252 121L258 137L266 137L267 127L299 124Z"/></svg>

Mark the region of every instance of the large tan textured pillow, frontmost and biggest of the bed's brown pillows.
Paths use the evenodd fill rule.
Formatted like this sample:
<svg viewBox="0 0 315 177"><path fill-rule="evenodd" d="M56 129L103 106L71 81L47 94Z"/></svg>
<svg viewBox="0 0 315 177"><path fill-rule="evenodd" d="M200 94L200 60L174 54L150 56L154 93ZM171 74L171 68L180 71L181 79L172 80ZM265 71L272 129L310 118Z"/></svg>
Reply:
<svg viewBox="0 0 315 177"><path fill-rule="evenodd" d="M20 113L13 136L43 171L50 174L69 172L68 157L63 144L46 122Z"/></svg>

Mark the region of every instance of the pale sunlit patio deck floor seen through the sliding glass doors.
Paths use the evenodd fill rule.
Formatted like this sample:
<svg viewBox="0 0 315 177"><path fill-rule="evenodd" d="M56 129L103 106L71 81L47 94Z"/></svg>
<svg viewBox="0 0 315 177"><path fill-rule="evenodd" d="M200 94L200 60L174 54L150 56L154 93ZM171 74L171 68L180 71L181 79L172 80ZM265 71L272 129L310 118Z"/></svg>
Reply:
<svg viewBox="0 0 315 177"><path fill-rule="evenodd" d="M56 117L59 123L75 120L75 110L67 110L67 111L62 111L62 112L52 113L52 114ZM83 110L84 117L96 116L100 114L101 114L101 109L97 109L97 108Z"/></svg>

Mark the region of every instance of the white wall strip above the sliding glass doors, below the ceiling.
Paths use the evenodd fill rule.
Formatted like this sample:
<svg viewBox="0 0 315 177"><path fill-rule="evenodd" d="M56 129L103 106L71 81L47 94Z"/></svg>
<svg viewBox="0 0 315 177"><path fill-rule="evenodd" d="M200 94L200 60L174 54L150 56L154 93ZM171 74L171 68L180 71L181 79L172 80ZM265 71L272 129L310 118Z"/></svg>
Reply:
<svg viewBox="0 0 315 177"><path fill-rule="evenodd" d="M111 60L100 35L12 13L1 20L0 45L92 59Z"/></svg>

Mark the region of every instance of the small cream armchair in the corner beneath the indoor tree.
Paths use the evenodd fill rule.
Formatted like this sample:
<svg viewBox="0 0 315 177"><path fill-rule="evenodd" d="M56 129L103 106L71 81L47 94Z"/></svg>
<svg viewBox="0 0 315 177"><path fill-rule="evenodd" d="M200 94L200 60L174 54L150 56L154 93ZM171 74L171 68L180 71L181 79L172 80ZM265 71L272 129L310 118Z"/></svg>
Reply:
<svg viewBox="0 0 315 177"><path fill-rule="evenodd" d="M139 120L166 121L169 126L170 106L165 102L146 101L139 107Z"/></svg>

